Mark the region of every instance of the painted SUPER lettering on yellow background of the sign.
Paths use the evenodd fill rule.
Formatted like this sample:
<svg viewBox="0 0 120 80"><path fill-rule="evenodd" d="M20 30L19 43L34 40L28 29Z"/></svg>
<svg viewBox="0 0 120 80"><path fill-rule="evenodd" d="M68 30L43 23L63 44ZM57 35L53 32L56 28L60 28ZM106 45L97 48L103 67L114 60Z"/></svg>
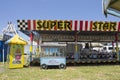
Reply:
<svg viewBox="0 0 120 80"><path fill-rule="evenodd" d="M72 30L71 21L38 20L36 24L36 30Z"/></svg>

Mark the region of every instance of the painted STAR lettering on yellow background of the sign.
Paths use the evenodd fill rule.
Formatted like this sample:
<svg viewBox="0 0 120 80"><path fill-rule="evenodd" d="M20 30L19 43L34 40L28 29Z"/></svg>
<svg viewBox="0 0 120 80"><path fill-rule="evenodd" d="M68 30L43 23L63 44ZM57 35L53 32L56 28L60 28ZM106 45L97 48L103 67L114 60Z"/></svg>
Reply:
<svg viewBox="0 0 120 80"><path fill-rule="evenodd" d="M98 31L116 31L116 22L93 22L92 30Z"/></svg>

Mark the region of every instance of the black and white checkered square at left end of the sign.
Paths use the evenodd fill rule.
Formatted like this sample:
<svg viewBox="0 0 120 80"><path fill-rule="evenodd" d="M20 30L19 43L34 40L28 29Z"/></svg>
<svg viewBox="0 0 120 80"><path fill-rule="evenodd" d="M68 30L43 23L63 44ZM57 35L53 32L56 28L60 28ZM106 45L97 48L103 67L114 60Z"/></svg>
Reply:
<svg viewBox="0 0 120 80"><path fill-rule="evenodd" d="M17 20L18 30L28 30L27 20Z"/></svg>

